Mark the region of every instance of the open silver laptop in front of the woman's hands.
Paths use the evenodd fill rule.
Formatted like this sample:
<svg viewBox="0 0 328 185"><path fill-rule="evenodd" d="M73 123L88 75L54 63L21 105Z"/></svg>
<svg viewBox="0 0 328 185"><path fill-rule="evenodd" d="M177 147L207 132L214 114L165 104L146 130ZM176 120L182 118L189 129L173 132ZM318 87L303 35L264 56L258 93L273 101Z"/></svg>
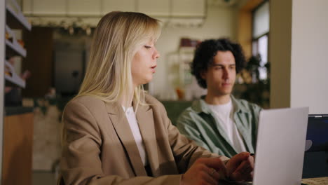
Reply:
<svg viewBox="0 0 328 185"><path fill-rule="evenodd" d="M308 107L261 111L253 185L301 184L307 124Z"/></svg>

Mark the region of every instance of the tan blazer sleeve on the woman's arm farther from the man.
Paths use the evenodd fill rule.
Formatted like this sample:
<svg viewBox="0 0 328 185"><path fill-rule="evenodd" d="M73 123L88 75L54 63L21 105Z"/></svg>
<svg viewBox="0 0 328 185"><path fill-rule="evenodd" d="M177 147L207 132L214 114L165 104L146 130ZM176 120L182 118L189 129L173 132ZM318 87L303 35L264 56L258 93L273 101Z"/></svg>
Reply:
<svg viewBox="0 0 328 185"><path fill-rule="evenodd" d="M64 184L179 184L181 174L124 179L104 175L100 160L102 138L97 119L81 102L67 104L63 114L60 171Z"/></svg>

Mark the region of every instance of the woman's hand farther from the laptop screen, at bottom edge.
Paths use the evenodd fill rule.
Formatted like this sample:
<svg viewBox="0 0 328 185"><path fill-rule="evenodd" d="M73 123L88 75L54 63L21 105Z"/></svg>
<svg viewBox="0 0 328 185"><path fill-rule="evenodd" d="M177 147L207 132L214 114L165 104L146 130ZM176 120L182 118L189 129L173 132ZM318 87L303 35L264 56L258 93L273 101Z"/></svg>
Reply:
<svg viewBox="0 0 328 185"><path fill-rule="evenodd" d="M199 158L182 176L182 185L217 184L226 177L226 165L220 158Z"/></svg>

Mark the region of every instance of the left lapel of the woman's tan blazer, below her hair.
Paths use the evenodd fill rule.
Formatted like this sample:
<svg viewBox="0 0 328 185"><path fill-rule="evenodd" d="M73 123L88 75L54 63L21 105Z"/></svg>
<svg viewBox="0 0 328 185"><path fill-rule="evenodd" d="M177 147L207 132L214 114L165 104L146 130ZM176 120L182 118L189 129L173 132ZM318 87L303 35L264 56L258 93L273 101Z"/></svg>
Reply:
<svg viewBox="0 0 328 185"><path fill-rule="evenodd" d="M120 138L125 151L128 153L128 158L132 164L136 176L146 176L146 170L139 154L139 149L135 143L135 137L132 135L130 125L125 116L123 108L118 103L107 103L107 112L111 123L113 123L116 134Z"/></svg>

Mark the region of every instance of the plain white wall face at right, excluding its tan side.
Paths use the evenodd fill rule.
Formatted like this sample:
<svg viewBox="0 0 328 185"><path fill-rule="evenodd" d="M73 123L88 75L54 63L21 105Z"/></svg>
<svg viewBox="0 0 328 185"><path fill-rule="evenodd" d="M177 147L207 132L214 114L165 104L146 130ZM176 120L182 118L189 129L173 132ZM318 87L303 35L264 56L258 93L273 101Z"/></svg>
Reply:
<svg viewBox="0 0 328 185"><path fill-rule="evenodd" d="M328 114L328 1L294 0L291 107Z"/></svg>

